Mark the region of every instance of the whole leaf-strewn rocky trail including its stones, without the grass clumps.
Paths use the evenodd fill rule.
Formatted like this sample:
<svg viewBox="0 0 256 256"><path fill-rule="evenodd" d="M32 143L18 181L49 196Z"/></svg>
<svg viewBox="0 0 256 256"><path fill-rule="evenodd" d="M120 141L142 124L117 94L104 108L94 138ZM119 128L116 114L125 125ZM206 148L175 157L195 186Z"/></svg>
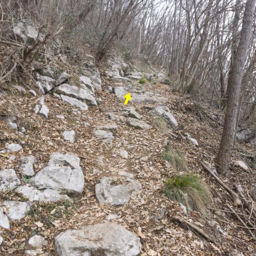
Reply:
<svg viewBox="0 0 256 256"><path fill-rule="evenodd" d="M218 210L228 195L200 164L212 162L219 135L198 120L194 103L171 91L157 69L140 84L139 70L124 74L127 64L113 58L99 71L88 56L83 75L67 69L54 78L41 69L36 89L14 86L1 101L0 254L252 255L246 230ZM157 116L169 132L157 129ZM161 193L177 173L162 158L165 145L181 150L190 171L210 184L216 205L207 217ZM254 150L241 142L241 153ZM232 177L248 180L238 159Z"/></svg>

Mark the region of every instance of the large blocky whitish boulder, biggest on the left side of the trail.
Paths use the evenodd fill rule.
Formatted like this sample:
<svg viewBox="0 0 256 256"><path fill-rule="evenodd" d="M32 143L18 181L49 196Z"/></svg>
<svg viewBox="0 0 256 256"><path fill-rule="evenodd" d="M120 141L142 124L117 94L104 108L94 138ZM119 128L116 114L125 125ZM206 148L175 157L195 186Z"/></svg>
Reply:
<svg viewBox="0 0 256 256"><path fill-rule="evenodd" d="M39 189L54 189L59 193L81 194L84 175L80 158L72 154L54 153L46 167L30 180Z"/></svg>

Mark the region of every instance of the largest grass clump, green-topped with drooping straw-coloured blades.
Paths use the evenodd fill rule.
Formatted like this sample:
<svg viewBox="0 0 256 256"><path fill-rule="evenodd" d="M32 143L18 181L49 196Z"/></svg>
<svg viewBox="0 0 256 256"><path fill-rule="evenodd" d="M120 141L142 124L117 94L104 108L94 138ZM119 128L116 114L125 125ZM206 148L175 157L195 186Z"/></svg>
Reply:
<svg viewBox="0 0 256 256"><path fill-rule="evenodd" d="M173 201L182 203L187 209L206 214L206 205L212 201L209 187L198 175L176 175L164 183L163 193Z"/></svg>

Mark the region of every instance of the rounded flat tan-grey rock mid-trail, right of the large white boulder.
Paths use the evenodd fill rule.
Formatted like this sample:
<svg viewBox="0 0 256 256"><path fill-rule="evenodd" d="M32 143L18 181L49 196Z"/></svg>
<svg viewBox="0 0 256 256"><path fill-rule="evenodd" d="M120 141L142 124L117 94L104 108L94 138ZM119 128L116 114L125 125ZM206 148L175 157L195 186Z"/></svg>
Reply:
<svg viewBox="0 0 256 256"><path fill-rule="evenodd" d="M100 204L123 205L141 191L139 182L123 177L105 177L98 180L95 186L95 195Z"/></svg>

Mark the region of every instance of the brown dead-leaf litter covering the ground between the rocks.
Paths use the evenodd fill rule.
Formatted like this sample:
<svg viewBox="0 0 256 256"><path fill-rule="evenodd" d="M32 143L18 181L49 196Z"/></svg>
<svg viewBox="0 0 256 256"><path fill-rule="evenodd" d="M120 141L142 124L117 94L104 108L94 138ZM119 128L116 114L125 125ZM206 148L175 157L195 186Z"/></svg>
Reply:
<svg viewBox="0 0 256 256"><path fill-rule="evenodd" d="M84 191L74 203L37 203L25 218L18 222L10 222L12 228L2 233L4 243L0 254L24 255L24 250L29 249L26 243L29 237L40 234L49 242L49 245L44 246L44 253L41 255L55 256L57 253L54 250L54 238L61 231L105 222L111 213L118 215L117 219L111 221L119 223L141 238L141 256L252 255L256 251L255 242L246 229L239 227L241 223L234 215L226 212L226 205L232 205L229 195L200 164L201 161L213 161L219 146L221 128L213 128L199 121L196 105L189 98L161 83L151 84L151 90L169 98L165 106L170 108L178 123L184 126L183 130L173 132L177 138L158 131L153 124L153 116L143 108L144 105L131 101L127 106L135 107L143 116L142 120L153 128L147 131L135 130L125 123L115 123L106 113L121 114L124 103L108 92L107 86L111 83L108 79L102 79L103 90L97 92L102 102L98 107L90 108L82 114L75 113L74 107L51 95L45 95L45 105L50 109L48 119L35 114L37 97L10 92L0 102L1 109L11 109L12 114L19 116L19 125L27 130L25 136L20 137L9 129L4 121L0 121L0 148L4 148L7 142L20 143L22 146L22 150L17 153L0 154L1 170L14 168L22 180L18 171L21 156L33 155L38 161L35 165L37 172L47 164L52 153L73 153L81 158L85 178ZM59 119L56 115L63 115L65 119ZM85 126L85 123L90 125ZM106 145L95 139L92 131L94 126L110 123L115 123L118 129L113 143ZM74 143L63 140L61 133L64 130L75 131ZM180 134L185 132L189 132L191 137L197 139L199 146L193 146L183 140ZM172 170L162 159L166 141L182 151L190 172L199 174L211 187L214 203L209 205L207 215L203 216L197 212L185 215L178 203L170 201L161 193L164 180L177 174L177 171ZM121 149L128 151L128 159L118 155ZM148 156L148 159L141 161L135 157L138 154ZM230 166L230 177L220 178L230 187L234 183L241 183L244 188L250 190L256 184L255 175L252 170L245 172L235 164L235 161L242 159L243 154L255 154L255 147L237 143ZM15 155L15 159L10 160L10 155ZM103 165L97 163L99 156L103 157ZM93 169L100 172L94 174ZM142 193L123 206L100 205L94 193L96 181L103 175L111 176L119 171L132 173L135 180L142 184ZM22 200L22 197L13 192L1 194L1 201L6 198ZM181 216L202 228L213 238L214 243L206 241L193 229L184 228L173 222L171 218L174 215ZM218 230L211 228L209 220L216 220L228 236L225 237Z"/></svg>

